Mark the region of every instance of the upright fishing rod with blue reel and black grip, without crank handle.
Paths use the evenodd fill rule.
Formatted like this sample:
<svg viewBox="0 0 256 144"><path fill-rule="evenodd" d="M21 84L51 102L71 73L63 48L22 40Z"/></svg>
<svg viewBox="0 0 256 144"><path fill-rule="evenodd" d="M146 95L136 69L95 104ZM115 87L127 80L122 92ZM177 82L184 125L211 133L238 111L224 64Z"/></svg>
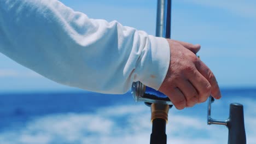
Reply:
<svg viewBox="0 0 256 144"><path fill-rule="evenodd" d="M171 38L171 0L158 0L156 12L156 37ZM132 93L136 101L151 107L152 134L150 144L166 144L166 123L172 103L168 97L141 82L133 82Z"/></svg>

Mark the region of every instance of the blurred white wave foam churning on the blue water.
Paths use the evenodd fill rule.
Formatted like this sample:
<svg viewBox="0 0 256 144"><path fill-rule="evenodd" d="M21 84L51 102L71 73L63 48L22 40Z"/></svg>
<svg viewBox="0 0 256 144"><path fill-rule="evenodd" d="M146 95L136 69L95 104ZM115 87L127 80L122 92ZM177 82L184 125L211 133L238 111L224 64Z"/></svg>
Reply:
<svg viewBox="0 0 256 144"><path fill-rule="evenodd" d="M256 102L256 101L254 101ZM252 101L243 101L254 107ZM255 112L246 115L247 143L256 141ZM227 143L228 130L206 119L175 113L167 124L168 143ZM249 126L249 127L248 127ZM95 113L65 113L34 118L25 127L0 133L0 143L149 143L150 110L144 105L104 107Z"/></svg>

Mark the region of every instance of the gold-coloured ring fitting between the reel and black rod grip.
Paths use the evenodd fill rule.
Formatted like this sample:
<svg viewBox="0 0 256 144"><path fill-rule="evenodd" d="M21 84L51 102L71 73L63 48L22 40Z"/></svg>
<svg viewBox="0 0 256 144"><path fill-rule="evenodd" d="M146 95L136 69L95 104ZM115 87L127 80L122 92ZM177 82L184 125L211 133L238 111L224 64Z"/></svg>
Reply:
<svg viewBox="0 0 256 144"><path fill-rule="evenodd" d="M151 104L151 122L153 122L155 118L162 118L165 119L167 123L169 108L169 105L165 104Z"/></svg>

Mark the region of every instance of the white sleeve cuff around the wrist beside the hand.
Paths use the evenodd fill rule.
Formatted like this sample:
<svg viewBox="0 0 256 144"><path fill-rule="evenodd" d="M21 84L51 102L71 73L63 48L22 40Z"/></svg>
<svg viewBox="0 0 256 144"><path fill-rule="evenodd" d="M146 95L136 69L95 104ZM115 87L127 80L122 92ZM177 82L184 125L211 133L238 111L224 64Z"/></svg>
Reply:
<svg viewBox="0 0 256 144"><path fill-rule="evenodd" d="M139 76L144 85L158 90L165 79L170 64L170 46L165 38L149 35L147 52Z"/></svg>

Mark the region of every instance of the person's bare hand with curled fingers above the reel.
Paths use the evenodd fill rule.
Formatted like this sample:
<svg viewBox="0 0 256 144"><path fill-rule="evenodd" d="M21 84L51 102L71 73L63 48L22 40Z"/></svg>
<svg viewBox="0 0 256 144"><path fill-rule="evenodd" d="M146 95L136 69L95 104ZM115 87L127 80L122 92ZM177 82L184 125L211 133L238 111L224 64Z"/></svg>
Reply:
<svg viewBox="0 0 256 144"><path fill-rule="evenodd" d="M167 41L171 50L171 62L159 91L166 94L179 110L206 101L210 94L220 99L215 76L195 55L200 50L200 45L170 39Z"/></svg>

